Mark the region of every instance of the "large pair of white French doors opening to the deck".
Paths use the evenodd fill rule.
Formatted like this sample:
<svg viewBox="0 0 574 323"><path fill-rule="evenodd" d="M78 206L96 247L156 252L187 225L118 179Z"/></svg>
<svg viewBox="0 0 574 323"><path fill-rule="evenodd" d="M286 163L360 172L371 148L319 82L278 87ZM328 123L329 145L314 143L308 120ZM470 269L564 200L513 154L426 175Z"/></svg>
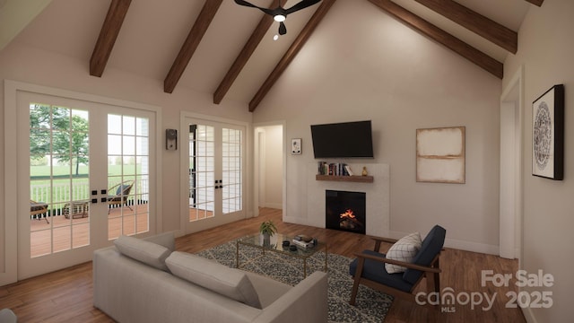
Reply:
<svg viewBox="0 0 574 323"><path fill-rule="evenodd" d="M155 231L154 113L30 92L17 105L18 279Z"/></svg>

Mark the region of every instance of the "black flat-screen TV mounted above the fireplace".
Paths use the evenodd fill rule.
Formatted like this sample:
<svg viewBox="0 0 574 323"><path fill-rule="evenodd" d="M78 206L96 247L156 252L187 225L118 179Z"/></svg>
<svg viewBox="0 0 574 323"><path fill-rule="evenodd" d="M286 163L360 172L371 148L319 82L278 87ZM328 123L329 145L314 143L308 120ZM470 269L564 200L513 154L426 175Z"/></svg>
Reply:
<svg viewBox="0 0 574 323"><path fill-rule="evenodd" d="M369 121L311 125L315 158L372 158Z"/></svg>

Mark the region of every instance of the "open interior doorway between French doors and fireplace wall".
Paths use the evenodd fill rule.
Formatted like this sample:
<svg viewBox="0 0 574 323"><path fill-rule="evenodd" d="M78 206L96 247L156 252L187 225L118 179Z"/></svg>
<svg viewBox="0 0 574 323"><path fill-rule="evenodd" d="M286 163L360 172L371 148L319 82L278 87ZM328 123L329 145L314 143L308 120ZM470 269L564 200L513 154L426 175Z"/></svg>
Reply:
<svg viewBox="0 0 574 323"><path fill-rule="evenodd" d="M256 125L255 131L255 209L284 210L285 145L283 124Z"/></svg>

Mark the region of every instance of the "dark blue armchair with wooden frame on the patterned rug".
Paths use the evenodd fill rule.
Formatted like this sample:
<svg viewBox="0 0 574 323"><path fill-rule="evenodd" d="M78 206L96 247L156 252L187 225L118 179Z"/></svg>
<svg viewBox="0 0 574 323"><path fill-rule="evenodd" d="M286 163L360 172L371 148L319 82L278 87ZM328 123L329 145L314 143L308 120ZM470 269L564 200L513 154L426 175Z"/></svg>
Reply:
<svg viewBox="0 0 574 323"><path fill-rule="evenodd" d="M426 278L426 295L433 292L434 296L439 296L439 256L444 245L446 230L439 225L435 225L426 238L422 240L421 249L414 255L412 262L404 262L387 258L386 254L380 253L381 242L396 243L397 240L386 238L373 238L375 240L374 250L363 250L357 253L350 267L349 272L354 277L352 285L351 305L355 304L359 284L369 286L372 289L385 292L396 298L406 301L417 302L415 288ZM404 266L404 272L389 274L385 264ZM425 301L429 309L429 320L435 320L439 315L439 306L429 304L426 297L421 297L420 301Z"/></svg>

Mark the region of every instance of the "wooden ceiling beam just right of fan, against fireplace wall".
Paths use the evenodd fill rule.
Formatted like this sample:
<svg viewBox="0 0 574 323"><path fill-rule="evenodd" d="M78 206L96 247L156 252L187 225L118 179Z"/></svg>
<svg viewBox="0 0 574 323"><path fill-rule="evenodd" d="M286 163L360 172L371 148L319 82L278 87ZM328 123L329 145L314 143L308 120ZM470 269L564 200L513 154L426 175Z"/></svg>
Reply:
<svg viewBox="0 0 574 323"><path fill-rule="evenodd" d="M261 103L261 100L265 98L267 92L271 90L274 83L277 82L277 80L279 79L281 74L283 74L287 66L291 64L293 58L295 58L297 56L297 53L299 53L300 49L303 48L309 37L311 37L313 31L315 31L315 28L317 28L319 22L323 20L326 13L329 11L329 9L331 9L331 6L333 6L333 4L335 4L335 0L323 0L321 2L321 5L319 5L317 11L313 13L313 16L311 17L311 19L309 19L309 22L307 22L303 30L297 36L297 39L293 41L291 47L287 49L287 52L285 52L279 63L277 63L274 70L271 72L271 74L269 74L269 76L267 76L265 83L263 83L261 88L259 88L259 91L257 91L253 99L249 102L250 112L253 112L255 109L257 109L257 106L259 105L259 103Z"/></svg>

